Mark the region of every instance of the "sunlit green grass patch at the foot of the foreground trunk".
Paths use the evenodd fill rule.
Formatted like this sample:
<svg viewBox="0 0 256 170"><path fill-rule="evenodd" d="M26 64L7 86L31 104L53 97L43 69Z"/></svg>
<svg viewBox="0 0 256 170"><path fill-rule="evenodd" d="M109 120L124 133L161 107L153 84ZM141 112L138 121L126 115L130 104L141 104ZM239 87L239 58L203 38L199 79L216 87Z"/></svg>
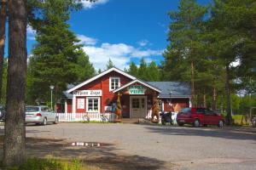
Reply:
<svg viewBox="0 0 256 170"><path fill-rule="evenodd" d="M1 163L2 164L2 163ZM3 167L5 170L100 170L99 167L88 166L79 159L65 161L56 158L29 158L20 167Z"/></svg>

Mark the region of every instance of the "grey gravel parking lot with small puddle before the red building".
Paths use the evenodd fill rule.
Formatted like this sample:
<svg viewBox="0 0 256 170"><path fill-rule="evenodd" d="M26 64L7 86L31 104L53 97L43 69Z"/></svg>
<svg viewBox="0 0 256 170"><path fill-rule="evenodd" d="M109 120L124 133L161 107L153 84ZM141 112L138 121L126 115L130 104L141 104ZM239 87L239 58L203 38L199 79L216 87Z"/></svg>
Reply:
<svg viewBox="0 0 256 170"><path fill-rule="evenodd" d="M26 136L31 155L80 157L104 169L256 169L255 128L60 123L26 126Z"/></svg>

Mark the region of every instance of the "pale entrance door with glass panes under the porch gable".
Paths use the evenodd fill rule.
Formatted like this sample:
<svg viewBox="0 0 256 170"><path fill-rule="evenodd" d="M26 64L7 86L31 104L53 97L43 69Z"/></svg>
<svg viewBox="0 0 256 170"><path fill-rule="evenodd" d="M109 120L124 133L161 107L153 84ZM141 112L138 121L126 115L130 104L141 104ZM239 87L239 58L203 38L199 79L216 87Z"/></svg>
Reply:
<svg viewBox="0 0 256 170"><path fill-rule="evenodd" d="M130 117L144 118L147 115L146 96L130 97Z"/></svg>

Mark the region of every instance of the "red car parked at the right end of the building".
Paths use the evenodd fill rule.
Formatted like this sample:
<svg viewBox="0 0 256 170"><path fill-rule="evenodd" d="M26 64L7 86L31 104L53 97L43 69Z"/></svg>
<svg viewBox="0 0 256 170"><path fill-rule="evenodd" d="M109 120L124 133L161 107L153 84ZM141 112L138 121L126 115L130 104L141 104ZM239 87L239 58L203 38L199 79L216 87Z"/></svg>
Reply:
<svg viewBox="0 0 256 170"><path fill-rule="evenodd" d="M218 127L223 127L224 116L206 108L184 108L177 114L177 124L179 126L183 126L183 124L192 124L195 127L201 125L218 125Z"/></svg>

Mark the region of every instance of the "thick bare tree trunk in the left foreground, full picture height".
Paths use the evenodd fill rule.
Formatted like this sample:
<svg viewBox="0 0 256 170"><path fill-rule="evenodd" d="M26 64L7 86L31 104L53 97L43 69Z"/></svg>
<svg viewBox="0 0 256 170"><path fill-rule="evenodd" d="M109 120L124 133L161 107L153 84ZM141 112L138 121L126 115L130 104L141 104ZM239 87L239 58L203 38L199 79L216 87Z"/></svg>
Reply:
<svg viewBox="0 0 256 170"><path fill-rule="evenodd" d="M26 0L9 0L9 60L3 164L20 165L25 153Z"/></svg>

